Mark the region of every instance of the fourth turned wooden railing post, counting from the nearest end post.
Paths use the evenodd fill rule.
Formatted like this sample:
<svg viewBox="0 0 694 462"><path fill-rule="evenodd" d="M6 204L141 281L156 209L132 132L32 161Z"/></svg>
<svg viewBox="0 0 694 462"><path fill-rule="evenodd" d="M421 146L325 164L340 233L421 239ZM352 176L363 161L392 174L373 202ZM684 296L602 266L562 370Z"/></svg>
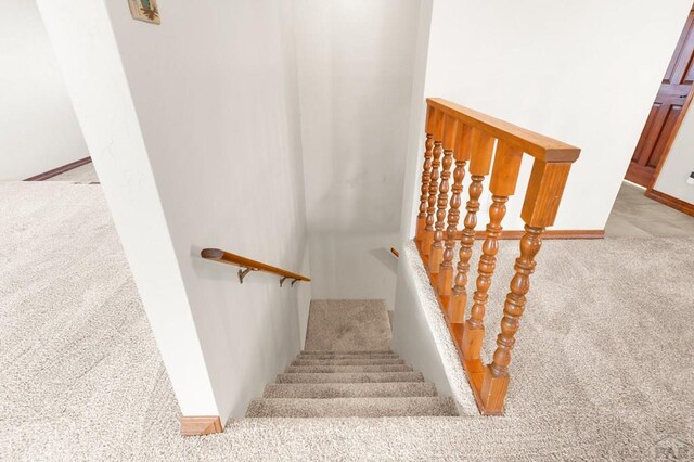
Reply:
<svg viewBox="0 0 694 462"><path fill-rule="evenodd" d="M455 170L453 170L453 192L448 210L448 228L446 230L446 246L444 249L444 261L438 273L438 295L440 299L448 303L453 285L453 248L455 247L455 233L460 221L461 193L463 192L463 180L465 179L465 165L470 159L470 138L472 127L459 123L458 136L455 137L455 147L453 157L455 159Z"/></svg>

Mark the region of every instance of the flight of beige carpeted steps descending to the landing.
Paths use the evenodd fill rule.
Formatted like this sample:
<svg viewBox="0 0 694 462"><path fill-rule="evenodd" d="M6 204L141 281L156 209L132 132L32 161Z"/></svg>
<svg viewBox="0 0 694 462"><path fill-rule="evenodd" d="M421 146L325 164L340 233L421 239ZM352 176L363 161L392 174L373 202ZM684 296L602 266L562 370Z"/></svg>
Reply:
<svg viewBox="0 0 694 462"><path fill-rule="evenodd" d="M247 418L458 415L391 351L304 351L248 406Z"/></svg>

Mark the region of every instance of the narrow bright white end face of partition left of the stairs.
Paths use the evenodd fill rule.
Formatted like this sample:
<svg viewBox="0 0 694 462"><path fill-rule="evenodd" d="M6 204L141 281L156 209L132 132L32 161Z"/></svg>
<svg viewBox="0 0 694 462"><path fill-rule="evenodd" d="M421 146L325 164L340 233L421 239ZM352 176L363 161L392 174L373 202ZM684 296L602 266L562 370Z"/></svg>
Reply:
<svg viewBox="0 0 694 462"><path fill-rule="evenodd" d="M38 5L181 412L218 415L105 4Z"/></svg>

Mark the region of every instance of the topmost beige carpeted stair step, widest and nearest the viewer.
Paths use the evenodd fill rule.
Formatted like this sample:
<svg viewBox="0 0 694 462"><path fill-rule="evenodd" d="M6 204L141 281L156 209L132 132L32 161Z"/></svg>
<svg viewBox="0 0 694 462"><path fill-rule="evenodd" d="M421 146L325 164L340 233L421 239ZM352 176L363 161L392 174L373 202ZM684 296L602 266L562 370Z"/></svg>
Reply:
<svg viewBox="0 0 694 462"><path fill-rule="evenodd" d="M451 398L270 398L254 399L247 418L382 418L458 415Z"/></svg>

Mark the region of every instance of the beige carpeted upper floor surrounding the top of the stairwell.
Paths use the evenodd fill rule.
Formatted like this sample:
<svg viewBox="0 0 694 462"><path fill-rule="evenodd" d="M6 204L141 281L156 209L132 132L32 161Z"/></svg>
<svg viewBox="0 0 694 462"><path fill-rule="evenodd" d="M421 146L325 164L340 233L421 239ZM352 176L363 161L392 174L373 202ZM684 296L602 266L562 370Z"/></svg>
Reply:
<svg viewBox="0 0 694 462"><path fill-rule="evenodd" d="M247 419L182 438L101 189L0 183L0 460L694 455L694 238L547 241L504 418Z"/></svg>

